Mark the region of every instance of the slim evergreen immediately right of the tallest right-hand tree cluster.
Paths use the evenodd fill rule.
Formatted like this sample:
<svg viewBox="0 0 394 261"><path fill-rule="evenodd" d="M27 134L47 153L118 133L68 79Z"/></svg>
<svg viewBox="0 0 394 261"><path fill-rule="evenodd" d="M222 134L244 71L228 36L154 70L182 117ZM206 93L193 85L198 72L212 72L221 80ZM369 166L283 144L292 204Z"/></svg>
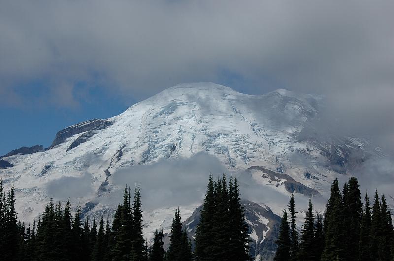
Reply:
<svg viewBox="0 0 394 261"><path fill-rule="evenodd" d="M360 238L359 238L359 261L371 261L371 208L369 206L368 193L365 193L365 205L362 212L361 227L360 227Z"/></svg>

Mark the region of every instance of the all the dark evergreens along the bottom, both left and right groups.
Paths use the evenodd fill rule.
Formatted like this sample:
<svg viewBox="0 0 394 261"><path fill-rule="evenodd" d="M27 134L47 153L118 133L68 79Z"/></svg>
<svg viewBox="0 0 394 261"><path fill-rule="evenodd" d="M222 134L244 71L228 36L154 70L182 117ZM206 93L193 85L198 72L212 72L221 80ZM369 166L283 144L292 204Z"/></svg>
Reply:
<svg viewBox="0 0 394 261"><path fill-rule="evenodd" d="M309 201L300 242L292 195L289 217L287 211L283 213L275 260L394 260L393 223L386 197L379 197L376 190L372 208L367 195L362 207L358 187L357 179L351 177L341 193L334 180L323 222L320 215L314 217ZM210 175L196 230L195 255L178 209L166 260L191 261L193 256L197 261L250 260L243 211L237 180L230 177L227 183L223 175L214 181ZM139 186L135 186L132 205L130 188L125 188L123 204L118 206L112 226L107 217L105 229L102 217L98 231L95 217L86 217L82 224L80 205L74 218L71 213L69 200L62 208L51 199L37 222L18 222L15 188L4 192L0 181L0 260L164 260L163 231L155 232L149 250L143 239Z"/></svg>

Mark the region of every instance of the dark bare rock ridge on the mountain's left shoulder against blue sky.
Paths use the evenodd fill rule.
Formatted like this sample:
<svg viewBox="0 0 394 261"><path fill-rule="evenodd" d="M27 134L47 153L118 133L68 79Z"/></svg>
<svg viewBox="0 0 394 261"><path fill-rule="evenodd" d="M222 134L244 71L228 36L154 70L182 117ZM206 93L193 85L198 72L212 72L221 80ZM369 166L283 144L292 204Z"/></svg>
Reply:
<svg viewBox="0 0 394 261"><path fill-rule="evenodd" d="M67 127L66 129L58 131L58 133L55 136L55 139L52 142L52 145L48 149L51 149L56 145L64 143L67 138L69 138L75 134L79 134L79 133L86 132L86 131L102 130L102 129L105 129L111 125L112 125L112 122L105 120L105 119L92 119L92 120L88 120L85 122L81 122L81 123L72 125L70 127ZM76 147L79 144L78 143L74 144L73 147ZM71 149L71 148L69 148L69 149Z"/></svg>

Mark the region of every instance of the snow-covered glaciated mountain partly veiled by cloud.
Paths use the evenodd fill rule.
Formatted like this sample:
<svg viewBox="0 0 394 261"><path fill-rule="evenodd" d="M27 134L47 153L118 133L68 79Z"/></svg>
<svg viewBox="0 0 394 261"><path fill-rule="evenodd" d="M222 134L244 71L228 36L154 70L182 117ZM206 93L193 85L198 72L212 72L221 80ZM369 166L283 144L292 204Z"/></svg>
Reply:
<svg viewBox="0 0 394 261"><path fill-rule="evenodd" d="M54 184L68 184L60 182L68 179L81 182L71 183L65 198L84 205L85 214L110 213L119 203L113 195L123 189L114 182L122 170L199 153L214 156L229 172L246 174L275 193L326 196L334 177L380 151L365 140L317 135L314 123L322 106L320 96L284 89L253 96L213 83L181 84L118 116L61 130L48 149L7 154L0 177L6 187L15 184L19 217L25 220L43 210L52 193L48 187L56 189ZM86 180L86 188L78 187ZM190 216L198 202L181 206L182 216ZM147 209L147 234L168 227L175 207L168 203L163 209ZM274 203L269 207L278 215L283 209Z"/></svg>

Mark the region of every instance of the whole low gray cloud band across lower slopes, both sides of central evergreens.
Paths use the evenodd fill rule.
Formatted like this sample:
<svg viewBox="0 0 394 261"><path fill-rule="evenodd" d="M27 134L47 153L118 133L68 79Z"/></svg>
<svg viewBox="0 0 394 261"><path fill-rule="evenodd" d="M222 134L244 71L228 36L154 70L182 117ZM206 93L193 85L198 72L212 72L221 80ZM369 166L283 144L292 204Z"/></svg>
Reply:
<svg viewBox="0 0 394 261"><path fill-rule="evenodd" d="M112 202L121 202L125 184L141 185L141 197L144 209L185 206L203 202L209 174L214 178L226 173L228 177L238 177L241 197L268 206L283 206L289 202L289 195L257 184L248 173L230 173L215 157L198 153L188 159L163 160L152 165L138 165L122 169L111 176L113 183L119 187L112 191ZM114 194L117 194L114 196ZM308 197L296 195L299 208L307 206ZM107 199L101 199L107 200ZM314 198L316 209L323 210L325 199Z"/></svg>

